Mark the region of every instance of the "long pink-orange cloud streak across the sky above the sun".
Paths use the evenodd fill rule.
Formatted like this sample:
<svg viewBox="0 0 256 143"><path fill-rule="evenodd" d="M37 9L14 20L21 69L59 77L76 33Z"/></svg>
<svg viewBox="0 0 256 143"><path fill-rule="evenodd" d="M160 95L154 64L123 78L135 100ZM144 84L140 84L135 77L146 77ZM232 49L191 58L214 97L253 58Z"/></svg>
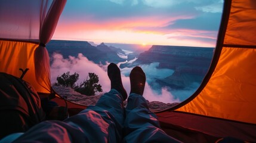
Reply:
<svg viewBox="0 0 256 143"><path fill-rule="evenodd" d="M193 18L194 15L176 15L167 17L161 16L149 16L149 17L125 17L125 18L112 18L109 20L101 21L95 20L92 16L87 16L84 21L72 22L70 20L64 20L58 24L55 33L61 31L71 32L86 32L93 30L132 30L134 32L146 32L146 33L164 33L161 27L168 26L174 23L176 20ZM139 29L144 27L147 30ZM156 27L159 27L156 29Z"/></svg>

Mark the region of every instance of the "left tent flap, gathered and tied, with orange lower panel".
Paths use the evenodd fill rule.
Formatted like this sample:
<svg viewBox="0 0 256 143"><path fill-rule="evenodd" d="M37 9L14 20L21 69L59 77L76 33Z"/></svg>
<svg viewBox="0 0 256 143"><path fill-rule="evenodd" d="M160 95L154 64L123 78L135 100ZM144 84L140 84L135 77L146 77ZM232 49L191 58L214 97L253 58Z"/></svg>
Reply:
<svg viewBox="0 0 256 143"><path fill-rule="evenodd" d="M66 0L1 1L0 49L1 71L20 77L36 91L51 93L50 58L44 47L54 33ZM4 40L3 40L4 39Z"/></svg>

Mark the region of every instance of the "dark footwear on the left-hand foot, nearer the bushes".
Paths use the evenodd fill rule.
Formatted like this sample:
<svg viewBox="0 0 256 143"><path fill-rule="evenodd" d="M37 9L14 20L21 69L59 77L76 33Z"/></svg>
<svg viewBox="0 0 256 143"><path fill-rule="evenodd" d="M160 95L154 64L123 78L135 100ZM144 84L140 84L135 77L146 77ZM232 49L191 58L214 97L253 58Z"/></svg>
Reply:
<svg viewBox="0 0 256 143"><path fill-rule="evenodd" d="M123 101L125 101L127 99L127 91L125 91L122 84L119 67L114 63L110 63L109 66L107 66L107 76L109 76L111 82L111 89L116 89L116 91L122 95Z"/></svg>

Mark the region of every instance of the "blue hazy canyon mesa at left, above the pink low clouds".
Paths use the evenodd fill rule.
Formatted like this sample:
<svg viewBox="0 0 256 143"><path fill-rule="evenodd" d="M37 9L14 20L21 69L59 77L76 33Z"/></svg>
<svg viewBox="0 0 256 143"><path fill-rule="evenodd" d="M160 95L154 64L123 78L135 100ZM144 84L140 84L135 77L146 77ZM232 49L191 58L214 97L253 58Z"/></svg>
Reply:
<svg viewBox="0 0 256 143"><path fill-rule="evenodd" d="M93 44L93 43L92 43ZM52 40L47 44L47 50L51 56L54 52L60 53L64 58L69 55L77 57L78 53L82 53L88 60L94 63L105 63L106 61L119 63L125 61L124 58L118 56L117 53L125 54L120 48L107 46L102 42L100 45L91 45L86 41L56 41Z"/></svg>

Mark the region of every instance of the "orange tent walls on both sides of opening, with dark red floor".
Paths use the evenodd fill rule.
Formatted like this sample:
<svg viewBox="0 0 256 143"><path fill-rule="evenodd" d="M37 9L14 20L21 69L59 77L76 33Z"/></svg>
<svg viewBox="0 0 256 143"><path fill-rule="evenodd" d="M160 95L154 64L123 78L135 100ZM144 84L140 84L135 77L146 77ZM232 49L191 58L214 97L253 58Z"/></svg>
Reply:
<svg viewBox="0 0 256 143"><path fill-rule="evenodd" d="M42 97L66 105L50 81L45 48L66 4L61 1L1 1L0 71L20 77ZM162 129L183 142L214 142L232 137L256 142L256 1L224 2L211 67L187 100L156 113ZM67 101L70 114L85 106ZM73 109L73 110L72 110ZM72 113L73 111L73 113Z"/></svg>

